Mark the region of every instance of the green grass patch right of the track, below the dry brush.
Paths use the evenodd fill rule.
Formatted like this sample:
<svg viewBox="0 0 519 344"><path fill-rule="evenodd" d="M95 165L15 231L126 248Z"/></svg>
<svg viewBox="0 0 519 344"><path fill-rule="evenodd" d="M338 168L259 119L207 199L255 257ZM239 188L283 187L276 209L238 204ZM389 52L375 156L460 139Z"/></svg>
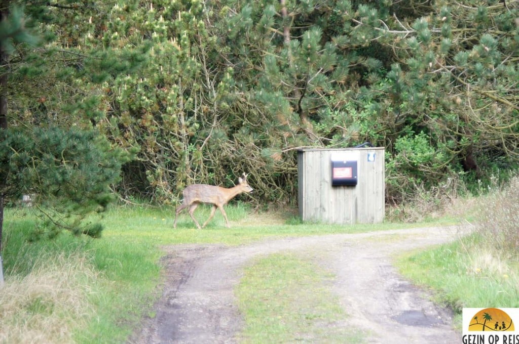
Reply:
<svg viewBox="0 0 519 344"><path fill-rule="evenodd" d="M519 307L519 264L479 241L472 235L397 259L406 278L431 289L436 303L454 310L460 331L464 307Z"/></svg>

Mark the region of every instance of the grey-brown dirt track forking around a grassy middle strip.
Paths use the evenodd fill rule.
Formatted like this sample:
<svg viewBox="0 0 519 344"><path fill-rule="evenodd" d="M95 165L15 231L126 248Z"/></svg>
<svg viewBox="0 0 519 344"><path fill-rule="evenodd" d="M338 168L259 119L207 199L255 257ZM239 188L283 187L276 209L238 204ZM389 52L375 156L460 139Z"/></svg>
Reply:
<svg viewBox="0 0 519 344"><path fill-rule="evenodd" d="M402 279L391 257L455 239L456 227L337 234L268 240L239 247L165 248L166 284L156 316L130 340L151 343L236 343L242 319L233 289L241 267L258 255L312 252L335 275L334 292L353 317L345 325L366 334L366 343L457 343L451 314ZM347 343L345 338L345 343Z"/></svg>

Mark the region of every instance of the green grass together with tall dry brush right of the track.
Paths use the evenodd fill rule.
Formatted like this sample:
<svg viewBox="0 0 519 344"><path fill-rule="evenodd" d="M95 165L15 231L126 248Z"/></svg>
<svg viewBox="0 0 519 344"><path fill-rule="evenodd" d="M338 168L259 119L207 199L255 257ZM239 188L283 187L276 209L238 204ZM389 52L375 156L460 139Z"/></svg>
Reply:
<svg viewBox="0 0 519 344"><path fill-rule="evenodd" d="M519 178L494 188L465 200L459 220L468 225L463 217L474 217L470 236L398 260L405 276L432 287L458 313L463 307L519 307Z"/></svg>

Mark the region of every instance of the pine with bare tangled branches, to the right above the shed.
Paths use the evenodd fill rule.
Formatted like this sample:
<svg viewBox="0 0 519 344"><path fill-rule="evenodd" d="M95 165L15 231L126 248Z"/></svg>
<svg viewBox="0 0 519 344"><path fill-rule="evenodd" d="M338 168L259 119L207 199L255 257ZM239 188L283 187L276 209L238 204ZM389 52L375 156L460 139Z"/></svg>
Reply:
<svg viewBox="0 0 519 344"><path fill-rule="evenodd" d="M485 169L516 164L519 8L509 5L359 5L356 34L377 37L376 44L391 51L387 82L377 87L375 100L383 128L405 133L391 138L392 146L423 133L441 156L428 164L409 161L417 141L400 145L406 148L392 151L390 176L412 169L431 187L456 178L461 169L482 178ZM370 17L383 12L394 15ZM416 186L418 180L411 185Z"/></svg>

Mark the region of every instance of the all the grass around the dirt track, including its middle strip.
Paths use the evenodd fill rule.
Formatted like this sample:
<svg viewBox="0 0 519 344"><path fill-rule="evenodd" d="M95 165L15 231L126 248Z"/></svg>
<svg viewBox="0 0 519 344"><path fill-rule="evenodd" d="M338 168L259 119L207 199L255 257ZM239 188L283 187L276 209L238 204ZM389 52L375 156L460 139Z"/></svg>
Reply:
<svg viewBox="0 0 519 344"><path fill-rule="evenodd" d="M506 202L518 203L513 197L507 194L471 202L481 209L503 208ZM203 222L209 211L209 207L199 207L195 216ZM243 206L228 206L226 211L231 228L225 227L217 212L208 227L197 230L183 213L174 230L173 209L114 207L105 214L106 229L100 239L63 233L53 240L29 242L35 217L30 213L21 217L19 209L6 209L0 343L126 342L144 315L153 316L151 306L162 283L159 259L163 245L241 245L273 237L424 226L302 224L285 214L250 214ZM476 213L483 212L477 209ZM439 302L455 309L519 307L519 263L517 255L504 245L516 240L517 231L512 227L516 222L515 218L503 219L506 213L496 212L500 219L493 219L485 212L486 222L463 241L400 257L401 271L435 290ZM447 222L429 224L452 224L462 216L451 214ZM494 223L506 227L502 233L507 236L503 238L495 226L485 230ZM328 288L332 278L298 255L271 255L251 263L237 290L247 322L243 341L319 342L326 337L327 342L340 342L344 329L335 325L345 314ZM354 332L347 335L356 340Z"/></svg>

